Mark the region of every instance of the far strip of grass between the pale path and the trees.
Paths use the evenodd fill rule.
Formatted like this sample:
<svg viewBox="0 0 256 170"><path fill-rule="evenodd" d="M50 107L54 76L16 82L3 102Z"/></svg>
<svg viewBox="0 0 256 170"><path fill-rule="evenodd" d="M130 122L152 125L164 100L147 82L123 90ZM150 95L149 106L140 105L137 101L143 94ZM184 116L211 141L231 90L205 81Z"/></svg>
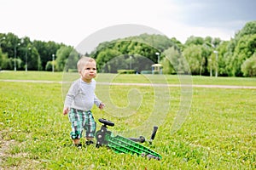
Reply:
<svg viewBox="0 0 256 170"><path fill-rule="evenodd" d="M56 82L69 82L78 77L78 73L67 72L47 72L47 71L4 71L0 72L1 79L9 80L47 80ZM117 75L117 74L98 74L97 82L137 82L137 83L168 83L179 84L184 82L183 76L176 75ZM236 86L255 86L256 77L191 77L193 84L211 85L236 85Z"/></svg>

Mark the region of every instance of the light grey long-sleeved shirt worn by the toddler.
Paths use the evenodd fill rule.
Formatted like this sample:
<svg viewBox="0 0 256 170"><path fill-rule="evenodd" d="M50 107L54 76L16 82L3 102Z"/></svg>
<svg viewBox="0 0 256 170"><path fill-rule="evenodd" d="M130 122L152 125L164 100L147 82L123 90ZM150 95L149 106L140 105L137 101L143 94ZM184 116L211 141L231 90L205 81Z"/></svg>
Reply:
<svg viewBox="0 0 256 170"><path fill-rule="evenodd" d="M99 106L102 101L95 94L96 81L84 82L81 78L74 81L67 92L64 107L90 111L95 104Z"/></svg>

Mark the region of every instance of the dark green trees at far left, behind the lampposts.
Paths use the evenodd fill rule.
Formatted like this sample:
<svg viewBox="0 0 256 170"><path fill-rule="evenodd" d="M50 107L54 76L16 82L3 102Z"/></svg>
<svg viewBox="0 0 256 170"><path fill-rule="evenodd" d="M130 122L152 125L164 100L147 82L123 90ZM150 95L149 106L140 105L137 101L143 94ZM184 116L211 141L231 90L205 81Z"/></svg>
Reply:
<svg viewBox="0 0 256 170"><path fill-rule="evenodd" d="M4 41L1 41L1 48L3 53L7 54L9 61L5 64L6 70L14 70L13 59L16 57L21 60L18 65L18 70L25 70L26 57L27 57L27 69L29 71L41 71L45 69L47 62L52 60L52 54L56 54L56 51L63 46L63 44L55 42L42 42L31 41L29 37L17 37L13 33L0 34L0 37L5 37Z"/></svg>

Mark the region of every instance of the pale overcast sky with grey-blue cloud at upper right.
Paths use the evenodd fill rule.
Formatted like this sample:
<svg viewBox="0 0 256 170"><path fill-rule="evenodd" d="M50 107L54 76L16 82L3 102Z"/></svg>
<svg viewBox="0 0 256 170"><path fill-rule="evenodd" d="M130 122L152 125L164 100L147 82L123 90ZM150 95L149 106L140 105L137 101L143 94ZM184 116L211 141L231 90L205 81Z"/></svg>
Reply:
<svg viewBox="0 0 256 170"><path fill-rule="evenodd" d="M146 26L183 43L190 36L230 40L248 21L256 20L254 0L0 0L0 4L0 33L73 47L120 25Z"/></svg>

